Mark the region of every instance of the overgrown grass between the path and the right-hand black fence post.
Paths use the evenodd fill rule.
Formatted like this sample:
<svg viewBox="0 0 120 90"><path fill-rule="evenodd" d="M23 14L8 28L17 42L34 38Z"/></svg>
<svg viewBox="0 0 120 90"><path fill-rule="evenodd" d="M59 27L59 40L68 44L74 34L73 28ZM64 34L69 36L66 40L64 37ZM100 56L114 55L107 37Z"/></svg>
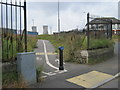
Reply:
<svg viewBox="0 0 120 90"><path fill-rule="evenodd" d="M56 52L58 52L58 48L63 46L64 49L64 59L65 61L71 61L73 59L74 51L80 49L81 40L83 38L82 35L40 35L39 39L49 40L56 48Z"/></svg>

